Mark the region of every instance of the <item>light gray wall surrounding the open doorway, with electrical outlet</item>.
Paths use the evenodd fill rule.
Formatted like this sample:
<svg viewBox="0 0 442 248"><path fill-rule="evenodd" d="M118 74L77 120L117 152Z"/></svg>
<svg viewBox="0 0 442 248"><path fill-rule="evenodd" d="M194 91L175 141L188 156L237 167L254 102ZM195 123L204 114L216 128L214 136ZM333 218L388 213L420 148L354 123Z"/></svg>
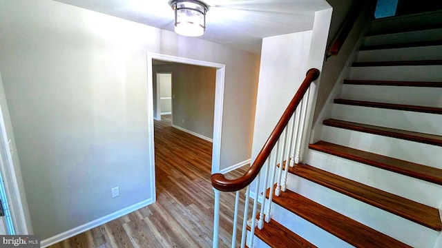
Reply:
<svg viewBox="0 0 442 248"><path fill-rule="evenodd" d="M226 65L221 166L250 157L258 55L49 0L0 1L0 30L0 71L42 239L153 199L147 52Z"/></svg>

